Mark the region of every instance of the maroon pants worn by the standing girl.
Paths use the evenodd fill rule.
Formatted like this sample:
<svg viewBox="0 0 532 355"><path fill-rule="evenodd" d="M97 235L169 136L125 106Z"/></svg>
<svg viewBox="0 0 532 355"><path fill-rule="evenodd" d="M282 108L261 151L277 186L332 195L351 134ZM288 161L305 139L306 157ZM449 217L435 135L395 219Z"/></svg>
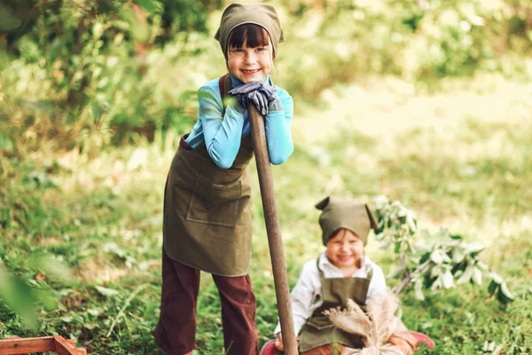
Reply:
<svg viewBox="0 0 532 355"><path fill-rule="evenodd" d="M228 355L259 353L255 325L256 300L249 275L212 275L222 303L223 344ZM162 293L160 319L155 339L170 355L184 355L194 349L196 304L200 270L176 262L162 251Z"/></svg>

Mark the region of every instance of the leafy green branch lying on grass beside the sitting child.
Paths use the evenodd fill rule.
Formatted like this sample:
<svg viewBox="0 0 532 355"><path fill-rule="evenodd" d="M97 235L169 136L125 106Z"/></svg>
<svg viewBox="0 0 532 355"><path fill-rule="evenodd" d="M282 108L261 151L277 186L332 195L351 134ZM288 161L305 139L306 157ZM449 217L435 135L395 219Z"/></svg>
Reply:
<svg viewBox="0 0 532 355"><path fill-rule="evenodd" d="M447 229L436 233L419 230L415 213L401 202L388 201L385 196L373 201L379 225L376 238L383 248L393 247L399 264L394 276L401 274L402 281L394 288L396 295L413 284L416 298L423 300L425 290L456 288L468 282L481 285L486 278L490 295L503 304L513 301L505 280L479 258L483 245L466 243Z"/></svg>

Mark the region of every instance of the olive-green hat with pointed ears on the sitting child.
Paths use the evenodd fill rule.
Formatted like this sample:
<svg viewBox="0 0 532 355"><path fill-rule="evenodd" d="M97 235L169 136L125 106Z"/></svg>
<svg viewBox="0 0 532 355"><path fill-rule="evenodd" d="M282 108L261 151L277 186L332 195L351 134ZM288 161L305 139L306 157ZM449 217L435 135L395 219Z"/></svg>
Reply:
<svg viewBox="0 0 532 355"><path fill-rule="evenodd" d="M377 228L372 211L365 203L329 196L318 202L316 208L323 211L319 216L319 225L322 227L324 245L327 245L332 233L340 228L355 233L366 245L370 229Z"/></svg>

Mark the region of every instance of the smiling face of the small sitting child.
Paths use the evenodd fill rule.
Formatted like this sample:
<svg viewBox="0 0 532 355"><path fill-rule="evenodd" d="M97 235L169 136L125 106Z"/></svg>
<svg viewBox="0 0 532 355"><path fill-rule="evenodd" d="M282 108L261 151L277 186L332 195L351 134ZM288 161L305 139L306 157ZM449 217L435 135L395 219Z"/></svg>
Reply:
<svg viewBox="0 0 532 355"><path fill-rule="evenodd" d="M364 256L364 243L358 236L348 229L340 229L327 241L325 255L334 266L341 269L360 266Z"/></svg>

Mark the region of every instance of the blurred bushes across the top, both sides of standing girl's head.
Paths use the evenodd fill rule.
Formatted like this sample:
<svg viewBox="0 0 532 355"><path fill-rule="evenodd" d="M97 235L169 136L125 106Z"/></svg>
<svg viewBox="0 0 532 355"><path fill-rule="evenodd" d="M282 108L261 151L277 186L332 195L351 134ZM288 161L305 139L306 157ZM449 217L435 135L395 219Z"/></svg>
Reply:
<svg viewBox="0 0 532 355"><path fill-rule="evenodd" d="M0 148L83 151L183 133L223 74L222 0L7 0L0 5ZM288 41L278 85L297 102L364 75L411 83L532 77L528 0L272 2Z"/></svg>

